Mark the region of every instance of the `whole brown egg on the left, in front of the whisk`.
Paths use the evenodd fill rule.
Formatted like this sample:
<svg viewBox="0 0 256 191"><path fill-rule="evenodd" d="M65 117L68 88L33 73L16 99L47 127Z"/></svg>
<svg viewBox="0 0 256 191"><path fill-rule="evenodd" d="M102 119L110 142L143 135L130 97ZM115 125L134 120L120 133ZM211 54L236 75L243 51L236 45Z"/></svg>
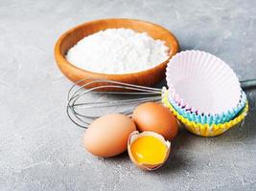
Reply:
<svg viewBox="0 0 256 191"><path fill-rule="evenodd" d="M128 148L128 137L136 130L131 118L121 114L111 114L94 120L83 137L83 145L98 157L113 157Z"/></svg>

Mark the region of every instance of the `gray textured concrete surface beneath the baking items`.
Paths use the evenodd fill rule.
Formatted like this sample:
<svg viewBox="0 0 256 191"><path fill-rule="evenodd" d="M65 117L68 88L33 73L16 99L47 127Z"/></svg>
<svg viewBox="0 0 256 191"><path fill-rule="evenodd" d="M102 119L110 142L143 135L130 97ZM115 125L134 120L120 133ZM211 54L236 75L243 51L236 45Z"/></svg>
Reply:
<svg viewBox="0 0 256 191"><path fill-rule="evenodd" d="M53 49L62 32L105 17L158 23L182 50L215 53L241 79L256 77L255 1L1 0L0 190L256 190L255 90L244 125L217 138L180 130L159 171L137 169L127 154L84 152Z"/></svg>

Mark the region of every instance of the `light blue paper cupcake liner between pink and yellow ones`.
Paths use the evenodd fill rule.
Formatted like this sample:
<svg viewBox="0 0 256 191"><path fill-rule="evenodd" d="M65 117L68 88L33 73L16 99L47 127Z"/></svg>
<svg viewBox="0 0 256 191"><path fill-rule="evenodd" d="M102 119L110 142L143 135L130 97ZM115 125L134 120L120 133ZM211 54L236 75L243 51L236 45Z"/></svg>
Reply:
<svg viewBox="0 0 256 191"><path fill-rule="evenodd" d="M178 105L175 102L175 100L172 99L171 96L168 96L168 98L169 98L169 102L172 104L172 106L175 108L175 111L180 116L188 118L191 121L195 121L195 122L202 123L202 124L205 124L205 123L220 124L220 123L229 121L232 118L237 116L237 114L244 108L244 105L246 103L246 95L243 92L240 102L232 110L223 112L218 115L203 115L203 114L197 114L195 112L188 111L186 108L180 107L180 105Z"/></svg>

